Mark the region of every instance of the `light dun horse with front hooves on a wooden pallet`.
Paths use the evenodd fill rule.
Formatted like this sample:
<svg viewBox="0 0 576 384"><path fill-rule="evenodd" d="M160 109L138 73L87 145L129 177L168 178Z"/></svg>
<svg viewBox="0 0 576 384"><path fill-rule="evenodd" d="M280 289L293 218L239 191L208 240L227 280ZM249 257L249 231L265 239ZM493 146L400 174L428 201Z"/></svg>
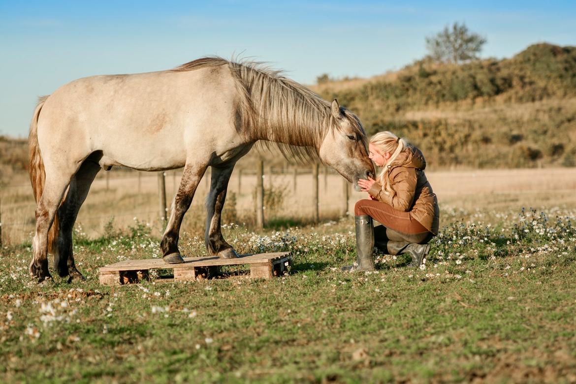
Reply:
<svg viewBox="0 0 576 384"><path fill-rule="evenodd" d="M366 135L350 111L275 71L221 58L176 69L78 79L40 98L30 126L30 178L37 201L30 272L84 279L74 265L72 228L100 169L160 171L184 167L160 248L182 263L180 225L206 168L206 249L237 257L222 237L221 212L234 165L259 140L284 154L318 155L358 188L374 172ZM66 196L65 196L66 193Z"/></svg>

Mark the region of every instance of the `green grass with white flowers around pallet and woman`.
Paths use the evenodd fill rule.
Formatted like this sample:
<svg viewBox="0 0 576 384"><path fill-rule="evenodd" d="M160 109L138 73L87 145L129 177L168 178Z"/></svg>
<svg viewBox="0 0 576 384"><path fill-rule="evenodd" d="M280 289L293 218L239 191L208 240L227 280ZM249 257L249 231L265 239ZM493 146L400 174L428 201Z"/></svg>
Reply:
<svg viewBox="0 0 576 384"><path fill-rule="evenodd" d="M351 218L226 229L239 252L293 251L289 275L272 280L100 286L98 267L157 256L138 222L77 238L84 283L38 286L29 245L5 248L0 381L574 381L576 212L495 213L446 213L418 270L378 254L376 273L340 272L354 258ZM181 249L203 252L202 239L183 234Z"/></svg>

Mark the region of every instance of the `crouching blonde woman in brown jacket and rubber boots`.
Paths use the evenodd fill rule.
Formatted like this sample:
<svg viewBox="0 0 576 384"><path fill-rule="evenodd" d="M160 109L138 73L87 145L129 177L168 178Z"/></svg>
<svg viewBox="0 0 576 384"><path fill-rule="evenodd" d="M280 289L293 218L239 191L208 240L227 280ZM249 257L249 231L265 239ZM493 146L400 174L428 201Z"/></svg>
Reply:
<svg viewBox="0 0 576 384"><path fill-rule="evenodd" d="M357 261L347 271L372 271L376 245L386 254L408 253L411 267L419 267L438 234L438 200L426 175L426 160L418 148L392 132L370 138L369 157L381 167L380 174L358 181L370 199L354 207ZM372 219L382 225L373 227Z"/></svg>

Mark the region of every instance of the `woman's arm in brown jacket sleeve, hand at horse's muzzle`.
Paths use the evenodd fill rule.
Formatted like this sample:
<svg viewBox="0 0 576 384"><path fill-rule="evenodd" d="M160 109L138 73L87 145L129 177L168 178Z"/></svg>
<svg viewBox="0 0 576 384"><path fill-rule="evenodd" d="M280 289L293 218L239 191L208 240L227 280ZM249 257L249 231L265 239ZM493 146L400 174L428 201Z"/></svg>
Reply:
<svg viewBox="0 0 576 384"><path fill-rule="evenodd" d="M374 183L368 192L378 201L389 204L395 210L408 212L412 207L412 201L414 201L416 182L417 177L414 168L399 167L393 169L390 175L390 195L387 195L378 183Z"/></svg>

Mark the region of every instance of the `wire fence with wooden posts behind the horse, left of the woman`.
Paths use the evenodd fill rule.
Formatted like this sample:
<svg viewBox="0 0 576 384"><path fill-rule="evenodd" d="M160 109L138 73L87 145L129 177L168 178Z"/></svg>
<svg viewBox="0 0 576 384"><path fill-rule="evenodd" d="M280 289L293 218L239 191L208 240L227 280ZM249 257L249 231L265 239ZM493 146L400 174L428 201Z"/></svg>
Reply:
<svg viewBox="0 0 576 384"><path fill-rule="evenodd" d="M79 211L77 223L84 233L94 236L102 235L112 219L118 227L127 227L138 219L161 232L181 176L182 169L137 172L114 168L101 172ZM314 177L317 183L313 182ZM260 197L257 180L262 181ZM313 185L316 185L316 190ZM185 215L185 221L188 220L192 227L204 225L204 197L209 189L210 170L207 170ZM252 169L237 169L230 177L223 218L256 227L278 218L305 218L311 222L334 218L346 214L349 189L350 185L344 178L324 166L266 168L263 165L261 174ZM166 197L162 199L162 196ZM29 183L22 181L0 187L0 245L20 244L32 238L35 208ZM257 222L258 216L263 218L260 223Z"/></svg>

